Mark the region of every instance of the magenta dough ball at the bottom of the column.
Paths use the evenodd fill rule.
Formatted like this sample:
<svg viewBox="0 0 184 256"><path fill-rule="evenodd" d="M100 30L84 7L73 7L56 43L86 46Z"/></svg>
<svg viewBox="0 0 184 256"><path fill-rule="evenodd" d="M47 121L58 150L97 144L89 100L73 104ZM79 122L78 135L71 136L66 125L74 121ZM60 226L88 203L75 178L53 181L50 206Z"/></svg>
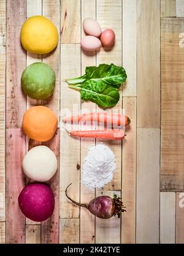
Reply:
<svg viewBox="0 0 184 256"><path fill-rule="evenodd" d="M55 198L49 186L33 183L23 188L18 196L18 204L27 218L43 222L53 214Z"/></svg>

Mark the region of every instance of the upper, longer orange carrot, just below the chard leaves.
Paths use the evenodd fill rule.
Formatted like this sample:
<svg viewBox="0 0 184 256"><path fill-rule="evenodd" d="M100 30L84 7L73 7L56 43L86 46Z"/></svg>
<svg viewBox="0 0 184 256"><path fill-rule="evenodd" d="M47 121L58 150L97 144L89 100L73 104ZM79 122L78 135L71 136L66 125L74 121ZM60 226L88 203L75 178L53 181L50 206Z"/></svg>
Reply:
<svg viewBox="0 0 184 256"><path fill-rule="evenodd" d="M64 118L63 122L79 123L86 121L97 121L98 123L112 124L112 126L128 126L131 119L123 114L114 113L87 113L80 114L79 116L71 116L70 118Z"/></svg>

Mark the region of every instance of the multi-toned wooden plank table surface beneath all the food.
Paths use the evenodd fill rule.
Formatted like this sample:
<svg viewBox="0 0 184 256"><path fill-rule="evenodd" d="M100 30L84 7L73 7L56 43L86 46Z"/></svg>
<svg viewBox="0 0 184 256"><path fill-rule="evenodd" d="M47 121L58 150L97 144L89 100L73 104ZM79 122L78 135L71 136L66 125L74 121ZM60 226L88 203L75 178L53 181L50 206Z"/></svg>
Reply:
<svg viewBox="0 0 184 256"><path fill-rule="evenodd" d="M184 243L184 1L0 0L0 14L0 243ZM33 15L50 18L60 32L51 54L29 54L20 45L21 25ZM86 17L115 31L111 51L82 52ZM55 92L48 100L32 100L21 92L21 73L34 62L55 70ZM55 211L45 222L32 222L21 214L17 198L30 182L21 161L39 143L23 134L23 114L29 106L45 105L61 121L68 111L99 110L82 102L64 79L100 63L123 65L128 74L115 108L125 109L130 129L123 143L104 142L116 157L113 180L96 191L80 183L79 167L95 141L69 137L59 122L55 137L44 143L59 162L48 182ZM115 192L127 212L121 218L94 218L66 199L69 183L75 200L88 202Z"/></svg>

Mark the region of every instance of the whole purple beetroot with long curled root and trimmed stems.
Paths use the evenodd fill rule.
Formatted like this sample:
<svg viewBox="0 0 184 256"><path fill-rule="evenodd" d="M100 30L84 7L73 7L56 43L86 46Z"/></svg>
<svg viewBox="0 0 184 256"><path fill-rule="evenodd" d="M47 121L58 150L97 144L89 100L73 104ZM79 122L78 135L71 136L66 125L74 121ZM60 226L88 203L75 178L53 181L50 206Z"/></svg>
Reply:
<svg viewBox="0 0 184 256"><path fill-rule="evenodd" d="M115 215L118 215L118 218L120 218L121 212L126 212L123 202L121 202L121 199L118 198L116 194L114 194L113 198L110 198L110 196L98 196L92 199L88 204L80 204L68 196L67 189L70 185L68 185L65 190L67 198L77 206L85 207L91 214L98 218L111 218Z"/></svg>

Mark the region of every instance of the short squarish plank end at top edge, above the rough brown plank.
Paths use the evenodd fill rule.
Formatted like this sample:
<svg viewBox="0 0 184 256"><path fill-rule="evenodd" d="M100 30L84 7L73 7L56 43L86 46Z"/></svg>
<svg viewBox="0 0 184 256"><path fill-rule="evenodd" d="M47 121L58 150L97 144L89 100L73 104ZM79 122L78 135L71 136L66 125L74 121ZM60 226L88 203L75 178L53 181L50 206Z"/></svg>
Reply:
<svg viewBox="0 0 184 256"><path fill-rule="evenodd" d="M161 17L175 17L177 0L161 0Z"/></svg>

